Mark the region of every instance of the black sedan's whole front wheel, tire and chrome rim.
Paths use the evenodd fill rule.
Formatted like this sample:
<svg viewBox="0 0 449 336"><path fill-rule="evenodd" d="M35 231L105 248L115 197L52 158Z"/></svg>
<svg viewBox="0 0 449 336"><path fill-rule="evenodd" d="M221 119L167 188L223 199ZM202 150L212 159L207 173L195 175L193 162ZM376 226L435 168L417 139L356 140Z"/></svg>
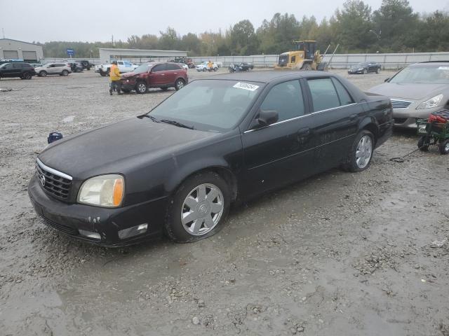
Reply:
<svg viewBox="0 0 449 336"><path fill-rule="evenodd" d="M229 205L229 187L220 175L200 172L190 177L177 189L168 206L168 237L188 243L214 235L225 223Z"/></svg>

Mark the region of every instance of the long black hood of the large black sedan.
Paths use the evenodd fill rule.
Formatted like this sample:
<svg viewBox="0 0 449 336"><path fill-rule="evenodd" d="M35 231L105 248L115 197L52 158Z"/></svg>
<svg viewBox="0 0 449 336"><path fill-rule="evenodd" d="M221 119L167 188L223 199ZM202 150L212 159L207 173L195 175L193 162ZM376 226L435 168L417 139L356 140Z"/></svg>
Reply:
<svg viewBox="0 0 449 336"><path fill-rule="evenodd" d="M48 146L39 160L84 180L100 174L125 173L159 162L183 148L219 134L132 118L67 137Z"/></svg>

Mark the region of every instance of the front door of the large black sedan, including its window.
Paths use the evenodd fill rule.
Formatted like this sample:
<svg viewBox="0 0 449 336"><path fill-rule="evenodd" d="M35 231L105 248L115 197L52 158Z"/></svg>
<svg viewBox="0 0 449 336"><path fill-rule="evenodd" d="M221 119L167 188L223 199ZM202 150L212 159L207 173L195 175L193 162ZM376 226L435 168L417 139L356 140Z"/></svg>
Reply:
<svg viewBox="0 0 449 336"><path fill-rule="evenodd" d="M246 176L243 193L250 197L297 181L311 172L311 132L299 80L271 88L259 110L277 111L279 120L242 134ZM257 116L256 116L257 118Z"/></svg>

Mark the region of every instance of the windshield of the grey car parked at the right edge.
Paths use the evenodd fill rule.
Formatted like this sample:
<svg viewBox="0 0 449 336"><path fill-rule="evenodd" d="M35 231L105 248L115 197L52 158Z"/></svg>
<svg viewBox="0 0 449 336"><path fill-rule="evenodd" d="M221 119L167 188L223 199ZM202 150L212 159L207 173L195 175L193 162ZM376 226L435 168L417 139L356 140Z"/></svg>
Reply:
<svg viewBox="0 0 449 336"><path fill-rule="evenodd" d="M449 84L448 66L408 66L391 78L390 83Z"/></svg>

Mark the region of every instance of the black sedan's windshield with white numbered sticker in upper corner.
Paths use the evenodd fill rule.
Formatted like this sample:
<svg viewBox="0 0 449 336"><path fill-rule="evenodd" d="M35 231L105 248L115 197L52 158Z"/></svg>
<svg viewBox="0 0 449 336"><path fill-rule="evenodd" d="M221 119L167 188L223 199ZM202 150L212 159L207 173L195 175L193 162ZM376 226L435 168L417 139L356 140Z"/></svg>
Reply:
<svg viewBox="0 0 449 336"><path fill-rule="evenodd" d="M195 80L156 106L150 115L206 132L231 130L253 105L262 83Z"/></svg>

